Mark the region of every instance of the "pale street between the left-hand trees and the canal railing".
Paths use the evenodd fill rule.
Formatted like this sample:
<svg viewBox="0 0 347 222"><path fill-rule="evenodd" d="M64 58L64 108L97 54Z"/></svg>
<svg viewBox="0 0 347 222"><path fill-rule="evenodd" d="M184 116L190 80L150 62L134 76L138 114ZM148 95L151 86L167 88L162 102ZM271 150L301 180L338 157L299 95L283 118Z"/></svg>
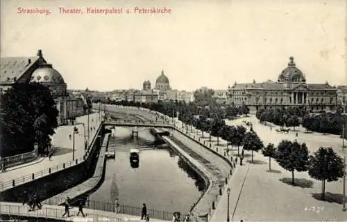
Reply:
<svg viewBox="0 0 347 222"><path fill-rule="evenodd" d="M75 159L83 157L84 154L84 127L81 123L85 124L85 135L87 136L87 115L76 118L76 127L78 128L78 134L75 134ZM99 126L99 113L90 114L90 142L94 137L97 127ZM95 129L94 129L95 127ZM73 129L74 126L62 126L56 129L56 134L52 136L52 145L57 148L56 152L51 157L51 161L48 158L33 161L33 163L27 163L23 166L15 166L14 168L8 168L7 171L0 173L1 182L12 180L22 175L28 175L38 171L42 171L46 168L69 162L72 160L72 148L73 148ZM71 134L71 140L69 135Z"/></svg>

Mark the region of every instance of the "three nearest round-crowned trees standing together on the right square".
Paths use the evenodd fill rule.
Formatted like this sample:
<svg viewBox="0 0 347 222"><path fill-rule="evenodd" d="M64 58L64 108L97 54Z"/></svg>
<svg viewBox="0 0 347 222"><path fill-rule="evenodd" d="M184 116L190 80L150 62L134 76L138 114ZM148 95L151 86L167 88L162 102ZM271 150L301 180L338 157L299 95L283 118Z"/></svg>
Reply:
<svg viewBox="0 0 347 222"><path fill-rule="evenodd" d="M281 141L276 148L269 143L262 150L264 157L269 157L269 171L271 171L271 158L286 171L291 171L291 184L295 184L294 171L307 171L310 177L322 182L322 199L325 199L325 182L337 181L344 176L345 165L339 155L332 148L319 148L309 155L305 143L296 141Z"/></svg>

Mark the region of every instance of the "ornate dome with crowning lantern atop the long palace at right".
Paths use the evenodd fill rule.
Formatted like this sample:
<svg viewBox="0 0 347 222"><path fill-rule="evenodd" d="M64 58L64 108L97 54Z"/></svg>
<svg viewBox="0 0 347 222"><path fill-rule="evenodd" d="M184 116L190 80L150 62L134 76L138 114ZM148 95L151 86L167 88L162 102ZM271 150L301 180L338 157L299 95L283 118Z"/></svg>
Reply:
<svg viewBox="0 0 347 222"><path fill-rule="evenodd" d="M278 76L278 82L305 82L305 76L301 70L296 68L294 57L289 57L288 67L282 70Z"/></svg>

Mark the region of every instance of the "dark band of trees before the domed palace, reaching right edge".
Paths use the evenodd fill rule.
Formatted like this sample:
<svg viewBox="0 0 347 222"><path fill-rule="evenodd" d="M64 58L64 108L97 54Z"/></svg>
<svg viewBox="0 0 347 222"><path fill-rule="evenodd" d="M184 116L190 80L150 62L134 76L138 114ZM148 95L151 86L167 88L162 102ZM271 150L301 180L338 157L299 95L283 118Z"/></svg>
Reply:
<svg viewBox="0 0 347 222"><path fill-rule="evenodd" d="M284 125L294 127L294 131L295 127L302 124L307 131L341 135L342 126L347 122L347 116L342 115L341 111L340 106L335 113L321 111L318 114L310 113L303 107L289 107L287 109L258 109L255 116L260 122L272 122L280 127Z"/></svg>

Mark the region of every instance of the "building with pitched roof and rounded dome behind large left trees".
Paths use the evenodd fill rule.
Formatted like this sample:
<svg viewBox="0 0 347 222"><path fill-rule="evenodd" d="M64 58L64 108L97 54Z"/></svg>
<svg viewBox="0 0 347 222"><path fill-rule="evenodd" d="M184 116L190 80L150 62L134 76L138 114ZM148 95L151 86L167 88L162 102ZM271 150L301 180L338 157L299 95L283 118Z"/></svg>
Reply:
<svg viewBox="0 0 347 222"><path fill-rule="evenodd" d="M59 111L58 125L65 125L84 114L84 102L67 93L67 84L62 75L44 60L41 50L37 51L37 56L1 58L0 95L16 83L31 82L40 83L51 90Z"/></svg>

